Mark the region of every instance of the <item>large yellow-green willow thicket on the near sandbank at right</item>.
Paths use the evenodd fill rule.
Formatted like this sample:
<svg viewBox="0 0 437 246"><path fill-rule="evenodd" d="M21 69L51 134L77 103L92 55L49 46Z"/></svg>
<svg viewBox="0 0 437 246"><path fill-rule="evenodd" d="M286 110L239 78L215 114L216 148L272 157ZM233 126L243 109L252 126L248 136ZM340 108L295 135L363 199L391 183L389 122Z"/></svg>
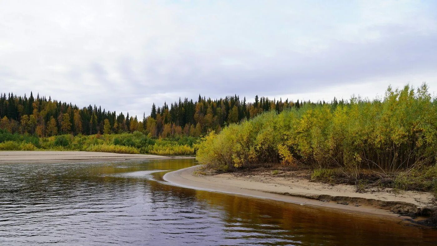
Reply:
<svg viewBox="0 0 437 246"><path fill-rule="evenodd" d="M436 109L423 84L388 88L373 101L353 97L346 104L266 112L209 133L196 146L197 159L217 170L277 162L385 171L434 165Z"/></svg>

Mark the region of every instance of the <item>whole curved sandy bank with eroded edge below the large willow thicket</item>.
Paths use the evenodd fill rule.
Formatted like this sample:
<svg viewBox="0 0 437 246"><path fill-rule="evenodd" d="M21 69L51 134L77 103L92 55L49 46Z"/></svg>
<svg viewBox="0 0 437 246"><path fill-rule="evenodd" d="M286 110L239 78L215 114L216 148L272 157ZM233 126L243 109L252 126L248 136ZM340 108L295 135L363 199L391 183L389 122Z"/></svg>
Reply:
<svg viewBox="0 0 437 246"><path fill-rule="evenodd" d="M281 200L352 213L374 214L422 225L436 226L434 196L427 192L391 189L355 192L355 186L314 183L307 179L283 178L266 174L236 176L232 173L194 175L190 167L169 172L163 179L178 186Z"/></svg>

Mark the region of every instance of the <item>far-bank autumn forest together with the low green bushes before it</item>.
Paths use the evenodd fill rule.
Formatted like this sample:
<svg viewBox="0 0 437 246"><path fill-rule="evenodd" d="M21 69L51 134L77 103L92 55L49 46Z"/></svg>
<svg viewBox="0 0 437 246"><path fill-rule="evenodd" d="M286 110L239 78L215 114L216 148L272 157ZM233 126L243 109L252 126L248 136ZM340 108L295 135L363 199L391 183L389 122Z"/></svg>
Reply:
<svg viewBox="0 0 437 246"><path fill-rule="evenodd" d="M325 102L319 102L324 104ZM337 102L334 99L333 103ZM194 144L208 131L250 119L261 112L281 112L312 102L269 100L255 96L254 102L227 96L212 100L199 95L156 107L142 119L89 105L45 96L0 97L0 150L80 150L127 154L194 155Z"/></svg>

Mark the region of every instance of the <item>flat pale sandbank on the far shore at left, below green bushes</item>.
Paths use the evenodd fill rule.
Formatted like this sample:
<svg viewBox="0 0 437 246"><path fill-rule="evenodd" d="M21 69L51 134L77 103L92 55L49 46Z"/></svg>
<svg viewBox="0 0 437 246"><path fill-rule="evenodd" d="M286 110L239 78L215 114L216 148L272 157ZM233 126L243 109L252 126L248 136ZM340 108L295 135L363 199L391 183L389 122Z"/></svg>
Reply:
<svg viewBox="0 0 437 246"><path fill-rule="evenodd" d="M77 162L193 158L184 156L117 154L87 151L0 151L0 162Z"/></svg>

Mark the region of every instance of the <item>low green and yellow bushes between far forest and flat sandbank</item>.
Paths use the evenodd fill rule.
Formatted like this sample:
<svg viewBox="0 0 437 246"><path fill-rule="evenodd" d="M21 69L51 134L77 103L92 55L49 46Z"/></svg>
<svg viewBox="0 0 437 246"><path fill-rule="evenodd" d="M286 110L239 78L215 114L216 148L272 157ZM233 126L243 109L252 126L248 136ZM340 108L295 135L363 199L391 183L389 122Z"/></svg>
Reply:
<svg viewBox="0 0 437 246"><path fill-rule="evenodd" d="M37 137L0 130L0 151L94 151L123 154L194 155L194 137L154 139L139 131L123 134Z"/></svg>

